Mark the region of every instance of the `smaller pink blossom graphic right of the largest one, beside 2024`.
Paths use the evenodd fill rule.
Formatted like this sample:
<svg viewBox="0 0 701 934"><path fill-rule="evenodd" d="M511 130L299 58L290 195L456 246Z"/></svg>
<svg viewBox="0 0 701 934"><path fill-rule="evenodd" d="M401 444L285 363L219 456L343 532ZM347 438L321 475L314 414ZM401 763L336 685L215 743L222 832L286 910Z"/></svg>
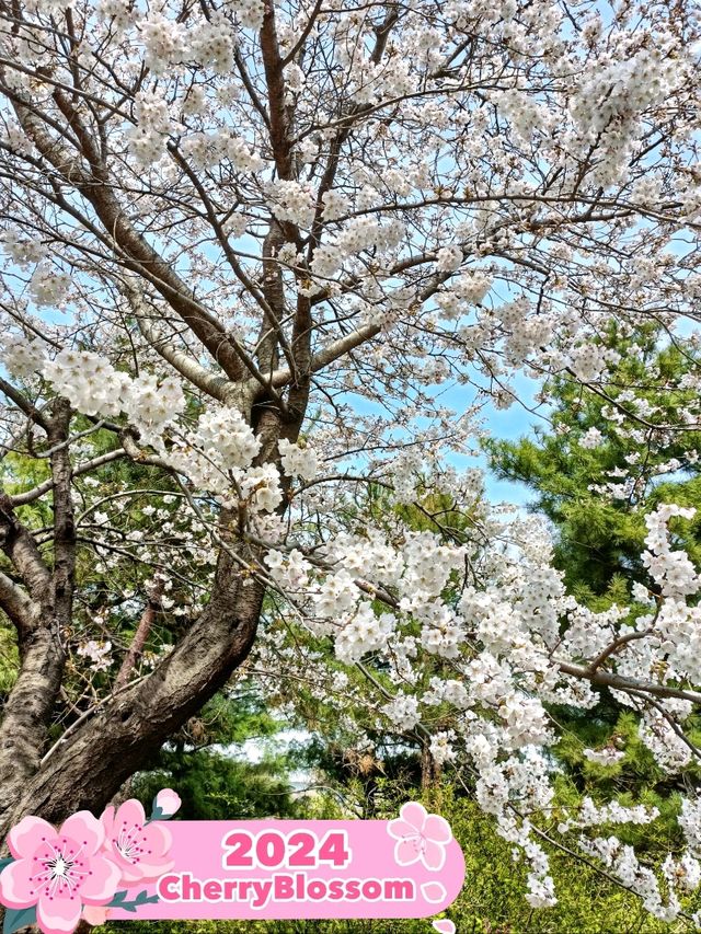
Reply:
<svg viewBox="0 0 701 934"><path fill-rule="evenodd" d="M168 856L171 832L160 821L147 823L140 802L130 798L116 814L113 807L105 808L100 820L105 833L105 855L119 867L123 885L158 879L173 867Z"/></svg>

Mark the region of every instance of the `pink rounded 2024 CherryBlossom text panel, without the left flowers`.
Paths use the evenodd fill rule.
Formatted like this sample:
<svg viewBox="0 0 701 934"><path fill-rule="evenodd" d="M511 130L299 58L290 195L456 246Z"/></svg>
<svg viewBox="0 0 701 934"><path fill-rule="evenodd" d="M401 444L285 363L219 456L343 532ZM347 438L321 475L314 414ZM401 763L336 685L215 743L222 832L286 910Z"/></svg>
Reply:
<svg viewBox="0 0 701 934"><path fill-rule="evenodd" d="M416 810L399 839L381 820L173 822L174 865L149 886L158 901L110 918L428 918L464 878L459 845L432 818Z"/></svg>

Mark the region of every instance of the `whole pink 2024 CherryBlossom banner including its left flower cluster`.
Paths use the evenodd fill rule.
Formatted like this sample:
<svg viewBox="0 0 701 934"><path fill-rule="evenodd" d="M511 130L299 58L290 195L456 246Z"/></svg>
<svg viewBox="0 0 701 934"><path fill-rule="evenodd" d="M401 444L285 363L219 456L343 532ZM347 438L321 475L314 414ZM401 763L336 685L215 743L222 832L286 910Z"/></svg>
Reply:
<svg viewBox="0 0 701 934"><path fill-rule="evenodd" d="M183 820L157 795L77 811L60 827L27 816L0 858L3 934L80 920L428 918L458 897L464 858L448 822L409 802L392 820ZM455 925L434 921L448 934Z"/></svg>

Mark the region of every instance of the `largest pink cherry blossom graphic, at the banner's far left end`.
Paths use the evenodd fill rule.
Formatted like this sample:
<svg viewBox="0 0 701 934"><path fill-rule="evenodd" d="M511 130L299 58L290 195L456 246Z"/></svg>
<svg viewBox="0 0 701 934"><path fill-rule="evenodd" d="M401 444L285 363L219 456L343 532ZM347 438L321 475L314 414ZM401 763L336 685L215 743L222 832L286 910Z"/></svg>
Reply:
<svg viewBox="0 0 701 934"><path fill-rule="evenodd" d="M44 934L69 934L83 906L107 904L119 883L119 867L102 851L104 839L104 827L87 810L60 830L23 818L8 834L14 861L0 873L0 900L11 909L36 906Z"/></svg>

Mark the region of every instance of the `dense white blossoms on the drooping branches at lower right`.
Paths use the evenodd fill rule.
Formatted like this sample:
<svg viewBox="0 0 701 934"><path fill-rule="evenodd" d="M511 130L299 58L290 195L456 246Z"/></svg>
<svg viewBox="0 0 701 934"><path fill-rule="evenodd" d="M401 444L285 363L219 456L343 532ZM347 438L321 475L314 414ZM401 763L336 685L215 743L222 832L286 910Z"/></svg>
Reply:
<svg viewBox="0 0 701 934"><path fill-rule="evenodd" d="M375 715L368 713L374 729L413 734L426 729L436 719L435 712L443 712L440 722L449 727L432 734L434 761L446 765L469 757L478 774L481 806L496 817L498 832L529 864L528 900L533 907L556 900L548 856L533 837L528 817L550 808L554 795L554 760L547 750L556 735L547 705L586 707L597 703L591 687L572 678L567 666L586 668L621 636L640 632L641 638L627 639L616 655L607 653L613 674L634 679L642 671L645 680L660 684L701 678L698 665L692 667L697 610L683 602L685 595L694 591L674 577L678 562L669 547L667 523L676 517L688 519L691 512L660 506L647 518L646 544L655 560L651 573L663 585L671 575L675 589L665 595L662 611L640 618L635 629L624 608L594 612L568 597L562 576L550 565L552 543L545 527L538 529L520 519L512 522L508 532L508 526L501 532L502 538L508 534L518 552L505 554L483 541L484 570L492 583L462 586L457 602L447 599L447 588L459 586L470 550L445 545L432 533L405 531L401 545L378 532L342 533L317 553L314 563L295 549L272 551L266 557L273 577L301 613L304 625L333 637L338 661L367 664L378 655L391 659L386 683L393 684L392 696L377 702ZM320 558L326 569L320 566ZM391 593L391 609L374 608L368 592ZM382 597L380 602L384 602ZM689 625L680 627L686 615ZM679 655L681 646L688 649L683 656ZM698 655L698 647L696 650ZM444 674L433 674L426 689L420 672L424 665L434 665L432 656L448 659L451 667ZM318 666L320 658L310 664ZM623 691L614 693L630 704ZM365 701L358 695L355 702L361 705ZM687 701L657 704L678 722L691 712ZM688 746L656 708L643 712L639 735L663 768L675 771L689 761ZM614 747L583 750L586 760L604 768L616 766L624 756L624 750ZM685 805L680 820L688 837L698 841L701 818L697 810L691 803ZM601 826L650 823L658 816L656 808L622 805L616 799L598 805L585 798L561 820L559 832L567 835ZM676 881L665 896L655 874L642 866L632 847L610 838L609 849L604 850L597 841L579 833L575 845L630 884L656 916L678 914L681 895L675 892L693 886L698 875L693 853L681 854L675 862ZM669 874L671 864L665 865L663 872Z"/></svg>

